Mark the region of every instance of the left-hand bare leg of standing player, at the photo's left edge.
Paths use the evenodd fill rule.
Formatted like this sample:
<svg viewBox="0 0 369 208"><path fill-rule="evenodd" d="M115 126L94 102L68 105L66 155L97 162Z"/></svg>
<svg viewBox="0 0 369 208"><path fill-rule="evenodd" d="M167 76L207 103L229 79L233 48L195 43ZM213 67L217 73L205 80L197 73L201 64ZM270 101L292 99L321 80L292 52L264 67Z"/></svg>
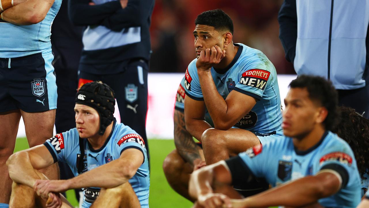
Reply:
<svg viewBox="0 0 369 208"><path fill-rule="evenodd" d="M0 113L0 203L8 204L10 199L12 180L6 161L14 152L20 118L19 110Z"/></svg>

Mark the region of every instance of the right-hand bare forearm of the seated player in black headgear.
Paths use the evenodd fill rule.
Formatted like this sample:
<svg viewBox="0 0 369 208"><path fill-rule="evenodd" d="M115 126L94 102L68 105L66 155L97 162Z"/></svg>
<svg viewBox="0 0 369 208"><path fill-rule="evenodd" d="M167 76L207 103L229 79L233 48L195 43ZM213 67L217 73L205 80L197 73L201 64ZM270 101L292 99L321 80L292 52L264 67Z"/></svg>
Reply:
<svg viewBox="0 0 369 208"><path fill-rule="evenodd" d="M129 167L122 167L120 161L114 160L67 181L68 189L85 187L114 188L124 184L130 178Z"/></svg>

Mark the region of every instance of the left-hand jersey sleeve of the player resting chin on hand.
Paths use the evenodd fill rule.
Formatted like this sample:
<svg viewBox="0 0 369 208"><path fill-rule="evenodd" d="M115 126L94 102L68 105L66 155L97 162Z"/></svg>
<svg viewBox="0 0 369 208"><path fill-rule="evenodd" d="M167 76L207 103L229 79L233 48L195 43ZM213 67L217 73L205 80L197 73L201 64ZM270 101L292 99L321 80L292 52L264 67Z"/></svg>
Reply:
<svg viewBox="0 0 369 208"><path fill-rule="evenodd" d="M199 76L197 75L196 59L189 64L184 74L184 89L186 90L186 95L190 98L199 101L204 100Z"/></svg>

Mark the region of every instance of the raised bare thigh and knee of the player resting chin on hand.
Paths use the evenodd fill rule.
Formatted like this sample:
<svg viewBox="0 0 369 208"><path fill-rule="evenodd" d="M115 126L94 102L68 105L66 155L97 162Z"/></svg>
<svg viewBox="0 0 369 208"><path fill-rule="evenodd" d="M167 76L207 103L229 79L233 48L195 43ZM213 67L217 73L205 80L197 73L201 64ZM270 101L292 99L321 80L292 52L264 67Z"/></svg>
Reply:
<svg viewBox="0 0 369 208"><path fill-rule="evenodd" d="M260 140L250 131L231 128L227 131L210 128L201 136L207 165L226 160L260 144Z"/></svg>

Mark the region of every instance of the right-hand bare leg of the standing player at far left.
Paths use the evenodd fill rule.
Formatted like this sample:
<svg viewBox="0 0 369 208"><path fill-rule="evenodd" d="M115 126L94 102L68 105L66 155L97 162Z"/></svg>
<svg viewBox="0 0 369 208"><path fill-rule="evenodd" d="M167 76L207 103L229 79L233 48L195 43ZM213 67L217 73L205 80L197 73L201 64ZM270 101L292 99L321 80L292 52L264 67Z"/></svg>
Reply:
<svg viewBox="0 0 369 208"><path fill-rule="evenodd" d="M25 134L30 147L44 144L46 140L53 136L55 111L56 110L54 109L44 112L27 113L21 110L25 126ZM50 180L59 179L59 168L56 163L40 171Z"/></svg>

